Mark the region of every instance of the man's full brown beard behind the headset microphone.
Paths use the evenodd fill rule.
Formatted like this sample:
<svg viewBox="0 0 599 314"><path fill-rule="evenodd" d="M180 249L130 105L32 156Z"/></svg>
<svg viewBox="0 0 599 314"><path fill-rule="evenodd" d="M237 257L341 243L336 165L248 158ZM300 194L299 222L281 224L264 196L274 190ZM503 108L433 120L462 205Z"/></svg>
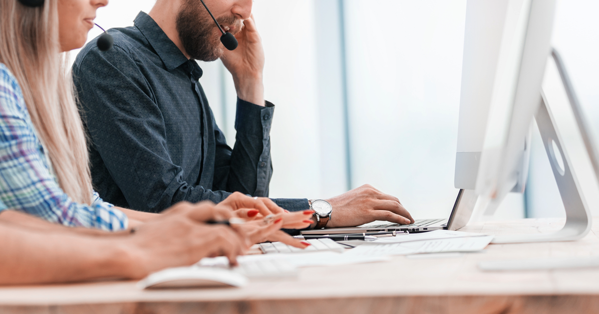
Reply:
<svg viewBox="0 0 599 314"><path fill-rule="evenodd" d="M233 35L243 27L243 21L234 16L217 19L220 25L235 26ZM177 32L183 48L191 59L214 61L223 54L220 31L216 33L214 21L196 0L186 0L177 14Z"/></svg>

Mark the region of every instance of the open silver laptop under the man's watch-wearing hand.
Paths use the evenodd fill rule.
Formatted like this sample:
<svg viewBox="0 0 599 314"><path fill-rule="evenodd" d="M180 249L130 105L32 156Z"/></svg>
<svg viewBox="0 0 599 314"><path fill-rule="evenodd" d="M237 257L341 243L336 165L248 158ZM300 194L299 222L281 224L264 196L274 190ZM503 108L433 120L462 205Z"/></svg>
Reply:
<svg viewBox="0 0 599 314"><path fill-rule="evenodd" d="M301 231L301 234L338 234L338 233L365 233L379 231L409 231L426 232L432 230L458 230L464 227L470 220L474 204L476 204L477 194L474 190L459 190L458 198L453 203L453 209L449 219L425 219L416 220L413 224L402 225L393 222L370 222L370 224L361 225L359 227L346 228L325 228ZM334 216L332 219L335 219Z"/></svg>

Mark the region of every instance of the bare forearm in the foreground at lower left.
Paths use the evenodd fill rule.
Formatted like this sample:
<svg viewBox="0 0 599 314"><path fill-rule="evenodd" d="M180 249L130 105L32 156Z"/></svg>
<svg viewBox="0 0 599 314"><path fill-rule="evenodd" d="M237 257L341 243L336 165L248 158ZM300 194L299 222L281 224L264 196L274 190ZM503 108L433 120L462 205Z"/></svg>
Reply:
<svg viewBox="0 0 599 314"><path fill-rule="evenodd" d="M0 222L0 284L130 278L131 257L114 237L24 230Z"/></svg>

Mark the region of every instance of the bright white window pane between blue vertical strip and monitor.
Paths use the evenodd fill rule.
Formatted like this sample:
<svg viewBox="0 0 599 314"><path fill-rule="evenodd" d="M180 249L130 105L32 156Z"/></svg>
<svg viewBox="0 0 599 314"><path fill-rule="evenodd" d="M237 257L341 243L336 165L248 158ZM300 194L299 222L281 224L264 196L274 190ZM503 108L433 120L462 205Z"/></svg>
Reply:
<svg viewBox="0 0 599 314"><path fill-rule="evenodd" d="M354 186L447 217L453 187L464 0L346 1Z"/></svg>

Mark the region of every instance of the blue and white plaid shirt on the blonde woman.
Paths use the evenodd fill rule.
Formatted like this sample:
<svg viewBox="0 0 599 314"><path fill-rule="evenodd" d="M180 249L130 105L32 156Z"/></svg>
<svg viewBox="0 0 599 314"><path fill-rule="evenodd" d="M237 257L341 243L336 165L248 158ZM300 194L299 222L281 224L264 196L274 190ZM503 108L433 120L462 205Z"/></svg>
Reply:
<svg viewBox="0 0 599 314"><path fill-rule="evenodd" d="M59 187L19 84L0 63L0 204L5 205L0 211L13 208L72 227L127 228L123 212L90 193L93 203L88 206L73 202Z"/></svg>

